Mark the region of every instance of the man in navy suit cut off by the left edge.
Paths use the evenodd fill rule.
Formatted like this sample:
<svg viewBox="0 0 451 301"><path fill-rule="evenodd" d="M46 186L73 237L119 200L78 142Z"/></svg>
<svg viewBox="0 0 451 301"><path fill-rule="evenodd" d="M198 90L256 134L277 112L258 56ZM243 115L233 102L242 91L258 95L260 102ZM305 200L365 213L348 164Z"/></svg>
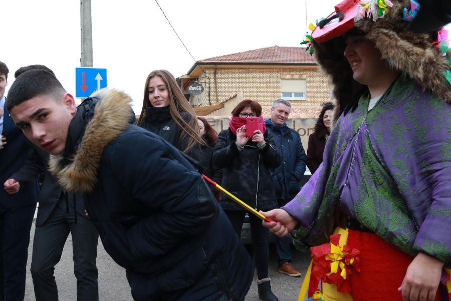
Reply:
<svg viewBox="0 0 451 301"><path fill-rule="evenodd" d="M30 146L14 124L5 106L8 67L0 62L0 183L17 172L27 160ZM30 229L38 201L38 182L24 184L20 193L10 196L0 189L0 300L23 300Z"/></svg>

